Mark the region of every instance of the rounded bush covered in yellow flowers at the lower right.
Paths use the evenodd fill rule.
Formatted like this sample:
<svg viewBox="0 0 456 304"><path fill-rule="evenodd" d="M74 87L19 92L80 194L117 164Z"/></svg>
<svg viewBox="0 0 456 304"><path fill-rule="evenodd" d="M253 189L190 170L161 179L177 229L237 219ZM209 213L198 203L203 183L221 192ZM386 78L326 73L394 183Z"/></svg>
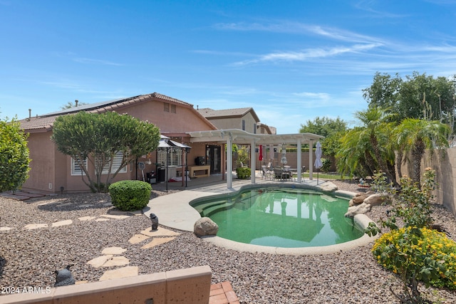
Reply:
<svg viewBox="0 0 456 304"><path fill-rule="evenodd" d="M394 229L375 241L372 253L409 288L422 281L427 287L456 290L456 242L441 232L412 226Z"/></svg>

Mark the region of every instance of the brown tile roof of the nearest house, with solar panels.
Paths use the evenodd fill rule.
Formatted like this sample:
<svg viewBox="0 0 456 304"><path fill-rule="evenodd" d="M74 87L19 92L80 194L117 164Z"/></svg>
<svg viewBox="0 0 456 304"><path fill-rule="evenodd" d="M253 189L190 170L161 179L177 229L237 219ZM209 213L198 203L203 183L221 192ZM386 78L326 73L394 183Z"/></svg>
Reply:
<svg viewBox="0 0 456 304"><path fill-rule="evenodd" d="M51 112L45 115L37 115L36 117L28 117L24 120L19 120L21 123L21 129L27 131L35 132L46 132L52 130L53 123L56 121L56 118L61 115L68 115L71 113L76 113L80 111L92 112L92 113L103 113L108 111L114 111L118 108L123 108L127 105L133 105L134 103L140 103L143 100L156 98L160 100L165 100L170 103L178 103L182 106L193 108L193 105L190 103L185 103L182 100L176 98L171 98L167 95L162 95L160 93L152 93L146 95L138 95L130 98L119 98L115 100L103 101L100 103L91 103L88 105L80 105L76 108L69 108L57 112Z"/></svg>

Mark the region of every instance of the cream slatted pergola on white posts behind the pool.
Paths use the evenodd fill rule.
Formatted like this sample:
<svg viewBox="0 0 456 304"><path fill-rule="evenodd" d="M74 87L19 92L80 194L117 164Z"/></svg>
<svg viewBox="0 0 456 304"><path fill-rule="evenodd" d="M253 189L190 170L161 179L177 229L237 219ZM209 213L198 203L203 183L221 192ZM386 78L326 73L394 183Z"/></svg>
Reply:
<svg viewBox="0 0 456 304"><path fill-rule="evenodd" d="M281 135L270 135L270 134L253 134L239 129L228 129L228 130L212 130L212 131L196 131L187 132L190 135L190 142L217 142L220 144L227 145L227 168L233 166L233 155L231 153L233 144L237 145L250 145L250 151L255 151L257 145L282 145L296 144L297 147L301 147L302 144L308 143L309 147L312 147L314 141L323 138L321 135L312 133L297 133L297 134L281 134ZM298 151L299 148L298 148ZM311 151L311 150L309 150ZM252 184L255 184L255 157L251 153L250 157L250 169ZM301 182L301 153L296 153L298 159L296 159L298 182ZM313 164L313 155L309 153L309 164ZM309 165L309 178L312 179L313 166ZM232 169L227 170L227 187L232 188L233 174Z"/></svg>

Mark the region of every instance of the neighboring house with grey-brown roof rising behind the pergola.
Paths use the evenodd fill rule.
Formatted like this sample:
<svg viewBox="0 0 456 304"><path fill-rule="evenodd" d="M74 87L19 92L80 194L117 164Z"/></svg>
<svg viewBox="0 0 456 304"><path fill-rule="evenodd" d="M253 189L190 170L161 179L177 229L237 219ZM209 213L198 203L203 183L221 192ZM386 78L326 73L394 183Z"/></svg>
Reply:
<svg viewBox="0 0 456 304"><path fill-rule="evenodd" d="M253 134L276 134L274 127L260 122L253 108L237 108L227 110L198 109L207 120L219 130L239 129Z"/></svg>

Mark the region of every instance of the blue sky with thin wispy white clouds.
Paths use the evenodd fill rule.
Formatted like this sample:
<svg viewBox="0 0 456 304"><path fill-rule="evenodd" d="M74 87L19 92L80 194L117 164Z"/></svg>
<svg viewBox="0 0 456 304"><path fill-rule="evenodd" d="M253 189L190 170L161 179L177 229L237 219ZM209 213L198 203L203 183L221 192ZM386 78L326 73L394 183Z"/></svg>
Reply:
<svg viewBox="0 0 456 304"><path fill-rule="evenodd" d="M375 72L456 74L456 1L0 0L0 117L158 92L280 134L367 107Z"/></svg>

